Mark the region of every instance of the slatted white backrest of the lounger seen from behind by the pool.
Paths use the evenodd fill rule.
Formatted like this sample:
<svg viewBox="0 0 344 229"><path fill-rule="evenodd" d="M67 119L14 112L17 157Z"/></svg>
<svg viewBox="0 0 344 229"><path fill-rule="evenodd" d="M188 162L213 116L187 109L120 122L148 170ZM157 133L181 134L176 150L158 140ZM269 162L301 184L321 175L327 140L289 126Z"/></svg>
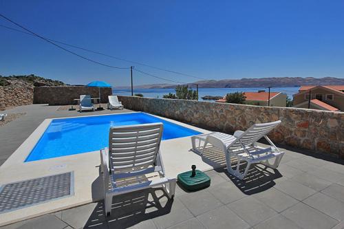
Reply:
<svg viewBox="0 0 344 229"><path fill-rule="evenodd" d="M109 160L114 171L155 166L162 138L162 123L111 127Z"/></svg>

